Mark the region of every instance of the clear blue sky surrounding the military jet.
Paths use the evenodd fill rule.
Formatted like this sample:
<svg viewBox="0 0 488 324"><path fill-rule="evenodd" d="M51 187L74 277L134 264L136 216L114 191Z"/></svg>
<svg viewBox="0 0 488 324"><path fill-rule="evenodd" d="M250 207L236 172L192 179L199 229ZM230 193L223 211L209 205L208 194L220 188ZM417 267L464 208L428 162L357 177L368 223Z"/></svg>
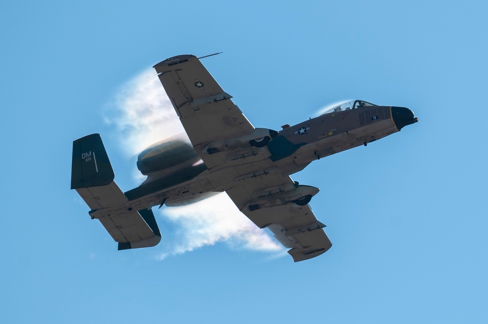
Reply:
<svg viewBox="0 0 488 324"><path fill-rule="evenodd" d="M485 2L139 2L0 4L0 322L486 320ZM90 133L122 190L137 186L123 89L216 52L203 64L255 127L353 98L420 118L292 175L321 189L324 255L294 264L246 245L244 225L172 254L213 228L171 212L159 246L118 252L69 190L72 141Z"/></svg>

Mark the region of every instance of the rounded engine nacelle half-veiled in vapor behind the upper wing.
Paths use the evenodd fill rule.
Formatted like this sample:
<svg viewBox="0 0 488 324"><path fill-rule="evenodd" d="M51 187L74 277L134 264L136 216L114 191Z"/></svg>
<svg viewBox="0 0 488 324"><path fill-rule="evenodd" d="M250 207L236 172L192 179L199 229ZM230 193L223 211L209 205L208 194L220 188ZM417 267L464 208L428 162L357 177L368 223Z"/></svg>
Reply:
<svg viewBox="0 0 488 324"><path fill-rule="evenodd" d="M191 166L200 161L193 146L181 136L173 136L155 143L137 157L137 168L142 174L162 172ZM173 170L174 169L174 170Z"/></svg>

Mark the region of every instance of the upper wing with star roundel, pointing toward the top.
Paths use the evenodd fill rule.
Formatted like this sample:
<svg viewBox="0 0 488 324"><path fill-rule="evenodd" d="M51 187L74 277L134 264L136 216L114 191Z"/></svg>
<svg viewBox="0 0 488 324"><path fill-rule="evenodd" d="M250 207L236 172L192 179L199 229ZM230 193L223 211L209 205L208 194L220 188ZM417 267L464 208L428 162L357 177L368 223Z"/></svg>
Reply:
<svg viewBox="0 0 488 324"><path fill-rule="evenodd" d="M224 92L197 57L171 57L154 68L199 154L203 143L241 136L254 130L231 100L232 96Z"/></svg>

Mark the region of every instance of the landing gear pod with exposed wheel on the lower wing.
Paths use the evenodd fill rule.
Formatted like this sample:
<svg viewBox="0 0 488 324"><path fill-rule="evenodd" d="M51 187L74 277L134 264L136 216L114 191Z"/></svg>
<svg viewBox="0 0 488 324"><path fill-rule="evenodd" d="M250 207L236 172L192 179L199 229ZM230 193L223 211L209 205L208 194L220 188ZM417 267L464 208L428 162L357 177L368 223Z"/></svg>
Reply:
<svg viewBox="0 0 488 324"><path fill-rule="evenodd" d="M247 203L249 210L257 210L263 207L294 202L299 206L305 206L310 199L320 191L317 187L298 185L295 189L269 194L266 196L254 198Z"/></svg>

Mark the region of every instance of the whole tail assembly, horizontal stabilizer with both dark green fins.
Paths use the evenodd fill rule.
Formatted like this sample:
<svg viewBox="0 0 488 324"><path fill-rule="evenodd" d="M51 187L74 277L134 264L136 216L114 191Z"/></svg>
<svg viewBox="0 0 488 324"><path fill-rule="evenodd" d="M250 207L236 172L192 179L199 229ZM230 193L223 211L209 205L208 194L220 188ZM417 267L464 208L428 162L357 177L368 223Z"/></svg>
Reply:
<svg viewBox="0 0 488 324"><path fill-rule="evenodd" d="M114 178L100 134L73 142L71 189L91 208L90 216L100 220L119 250L157 245L161 232L152 210L132 210Z"/></svg>

